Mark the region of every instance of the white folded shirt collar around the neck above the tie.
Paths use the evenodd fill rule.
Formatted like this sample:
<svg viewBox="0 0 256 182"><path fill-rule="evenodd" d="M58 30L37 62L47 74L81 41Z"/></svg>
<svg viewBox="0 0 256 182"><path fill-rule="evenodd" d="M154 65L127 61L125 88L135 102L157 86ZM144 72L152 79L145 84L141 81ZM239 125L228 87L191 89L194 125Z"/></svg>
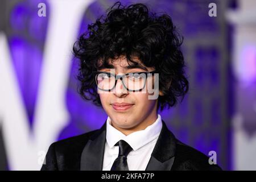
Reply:
<svg viewBox="0 0 256 182"><path fill-rule="evenodd" d="M162 118L158 114L158 118L152 125L147 126L144 130L135 131L126 136L111 125L111 119L108 117L106 121L106 141L109 147L112 148L119 140L125 140L135 151L158 137L161 129Z"/></svg>

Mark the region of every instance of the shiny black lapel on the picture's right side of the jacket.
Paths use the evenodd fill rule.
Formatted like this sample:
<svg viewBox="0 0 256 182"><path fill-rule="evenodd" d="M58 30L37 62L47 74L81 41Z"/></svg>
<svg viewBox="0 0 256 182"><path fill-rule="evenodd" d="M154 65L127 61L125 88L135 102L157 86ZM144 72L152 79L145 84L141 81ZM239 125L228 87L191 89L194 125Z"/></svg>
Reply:
<svg viewBox="0 0 256 182"><path fill-rule="evenodd" d="M146 171L170 171L174 164L176 139L162 120L163 127L147 164Z"/></svg>

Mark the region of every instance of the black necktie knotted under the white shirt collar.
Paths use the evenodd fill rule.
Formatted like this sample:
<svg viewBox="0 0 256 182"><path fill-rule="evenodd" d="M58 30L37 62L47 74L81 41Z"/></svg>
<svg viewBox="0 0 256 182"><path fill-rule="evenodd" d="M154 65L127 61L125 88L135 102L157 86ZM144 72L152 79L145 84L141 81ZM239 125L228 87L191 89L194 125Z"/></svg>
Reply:
<svg viewBox="0 0 256 182"><path fill-rule="evenodd" d="M133 148L125 140L119 140L115 146L119 146L119 154L110 171L129 171L127 155Z"/></svg>

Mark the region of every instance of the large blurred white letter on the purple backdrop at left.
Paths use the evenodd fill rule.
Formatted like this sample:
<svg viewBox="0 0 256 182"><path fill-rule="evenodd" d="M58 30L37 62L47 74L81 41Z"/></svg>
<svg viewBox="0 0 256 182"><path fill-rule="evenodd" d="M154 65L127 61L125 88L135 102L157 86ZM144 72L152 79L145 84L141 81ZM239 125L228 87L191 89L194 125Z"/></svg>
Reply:
<svg viewBox="0 0 256 182"><path fill-rule="evenodd" d="M38 170L39 154L47 151L67 125L65 89L71 68L71 50L84 10L92 1L49 1L46 49L36 100L34 130L30 133L5 35L0 34L0 125L11 170ZM33 69L33 68L31 68Z"/></svg>

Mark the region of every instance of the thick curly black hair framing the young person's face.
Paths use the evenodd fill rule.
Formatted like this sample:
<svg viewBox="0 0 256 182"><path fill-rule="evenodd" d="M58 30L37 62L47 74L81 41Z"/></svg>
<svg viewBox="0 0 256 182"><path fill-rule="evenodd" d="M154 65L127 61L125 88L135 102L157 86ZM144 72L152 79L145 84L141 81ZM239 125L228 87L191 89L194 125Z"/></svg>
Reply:
<svg viewBox="0 0 256 182"><path fill-rule="evenodd" d="M167 14L159 16L148 11L146 5L129 6L116 2L73 46L73 55L79 59L79 94L102 106L97 93L94 71L108 68L109 60L125 56L127 63L138 64L136 56L146 67L159 73L158 109L174 106L178 97L183 100L188 92L188 80L184 72L184 58L180 50L183 42L172 19ZM99 64L101 63L101 64Z"/></svg>

